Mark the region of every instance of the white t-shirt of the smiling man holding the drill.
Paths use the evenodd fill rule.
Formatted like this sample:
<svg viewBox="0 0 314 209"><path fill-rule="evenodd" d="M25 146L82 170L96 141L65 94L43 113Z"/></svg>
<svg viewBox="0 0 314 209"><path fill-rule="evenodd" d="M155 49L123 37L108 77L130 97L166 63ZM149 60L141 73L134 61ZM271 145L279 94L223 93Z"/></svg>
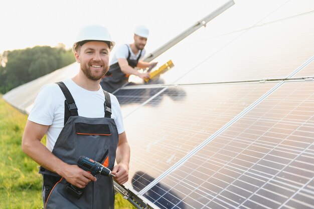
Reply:
<svg viewBox="0 0 314 209"><path fill-rule="evenodd" d="M88 118L104 117L105 95L100 87L98 91L88 91L78 86L72 79L63 83L68 87L76 103L78 115ZM111 118L114 119L118 133L124 132L122 114L117 98L110 94ZM28 119L38 124L49 125L47 148L52 151L64 126L65 96L57 84L43 86L39 92Z"/></svg>

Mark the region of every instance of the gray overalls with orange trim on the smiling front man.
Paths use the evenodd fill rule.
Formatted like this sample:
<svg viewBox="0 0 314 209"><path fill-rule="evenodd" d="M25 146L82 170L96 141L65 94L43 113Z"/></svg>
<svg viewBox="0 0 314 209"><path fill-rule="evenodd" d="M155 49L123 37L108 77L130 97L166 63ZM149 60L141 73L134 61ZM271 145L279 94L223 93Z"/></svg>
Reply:
<svg viewBox="0 0 314 209"><path fill-rule="evenodd" d="M86 118L78 115L75 101L64 83L57 83L65 100L65 125L60 132L52 153L68 164L77 164L84 155L112 170L118 144L118 132L111 118L111 102L105 94L103 118ZM67 191L69 183L56 173L40 167L43 174L43 201L45 209L108 209L114 208L112 177L96 175L97 181L83 188L78 199Z"/></svg>

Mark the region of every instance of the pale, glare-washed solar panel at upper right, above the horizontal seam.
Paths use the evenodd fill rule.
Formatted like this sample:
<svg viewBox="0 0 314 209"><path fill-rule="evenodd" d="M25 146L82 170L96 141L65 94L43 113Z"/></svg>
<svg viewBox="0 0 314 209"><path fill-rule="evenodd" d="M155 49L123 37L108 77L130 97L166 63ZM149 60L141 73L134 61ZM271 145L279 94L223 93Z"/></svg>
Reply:
<svg viewBox="0 0 314 209"><path fill-rule="evenodd" d="M254 27L176 84L286 78L313 56L314 27L309 25L314 13Z"/></svg>

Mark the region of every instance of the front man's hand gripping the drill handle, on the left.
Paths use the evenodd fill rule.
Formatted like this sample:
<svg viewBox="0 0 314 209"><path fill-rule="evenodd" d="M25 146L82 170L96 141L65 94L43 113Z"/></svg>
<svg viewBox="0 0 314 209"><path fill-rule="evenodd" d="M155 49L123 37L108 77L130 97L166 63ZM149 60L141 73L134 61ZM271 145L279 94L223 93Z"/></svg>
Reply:
<svg viewBox="0 0 314 209"><path fill-rule="evenodd" d="M77 165L66 165L62 176L72 185L84 188L90 181L96 181L96 177L79 168Z"/></svg>

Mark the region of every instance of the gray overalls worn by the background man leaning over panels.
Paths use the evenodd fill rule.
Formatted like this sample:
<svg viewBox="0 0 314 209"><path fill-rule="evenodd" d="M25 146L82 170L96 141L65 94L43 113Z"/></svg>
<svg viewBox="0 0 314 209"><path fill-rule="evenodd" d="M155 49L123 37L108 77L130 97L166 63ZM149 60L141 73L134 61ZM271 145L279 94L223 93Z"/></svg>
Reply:
<svg viewBox="0 0 314 209"><path fill-rule="evenodd" d="M131 60L130 59L130 57L131 57L130 49L129 49L128 45L126 45L126 46L128 48L128 57L126 58L127 63L132 68L135 68L137 66L137 63L138 63L141 55L142 55L142 50L140 50L140 52L138 53L139 55L136 58L136 60ZM106 76L101 80L100 85L105 91L112 93L116 89L120 88L125 83L127 83L128 77L129 77L129 75L126 75L121 71L119 63L115 63L115 64L110 66Z"/></svg>

